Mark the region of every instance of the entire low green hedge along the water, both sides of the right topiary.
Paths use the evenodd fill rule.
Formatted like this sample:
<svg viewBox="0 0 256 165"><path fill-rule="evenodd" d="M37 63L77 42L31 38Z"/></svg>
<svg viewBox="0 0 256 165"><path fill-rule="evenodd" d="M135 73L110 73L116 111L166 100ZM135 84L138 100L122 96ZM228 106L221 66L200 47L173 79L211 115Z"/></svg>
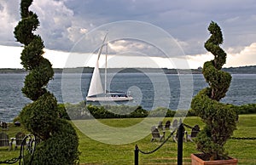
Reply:
<svg viewBox="0 0 256 165"><path fill-rule="evenodd" d="M256 113L256 104L247 105L229 105L231 108L241 114ZM159 107L153 111L147 111L142 106L128 105L85 105L79 104L60 104L60 117L73 120L90 118L138 118L138 117L195 117L195 111L173 111L167 108Z"/></svg>

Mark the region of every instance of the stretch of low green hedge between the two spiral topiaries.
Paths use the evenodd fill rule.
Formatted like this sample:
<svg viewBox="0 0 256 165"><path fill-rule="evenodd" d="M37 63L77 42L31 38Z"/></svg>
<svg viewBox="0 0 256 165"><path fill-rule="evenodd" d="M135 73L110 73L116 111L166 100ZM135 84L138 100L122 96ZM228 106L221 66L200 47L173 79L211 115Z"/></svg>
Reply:
<svg viewBox="0 0 256 165"><path fill-rule="evenodd" d="M137 117L174 117L184 116L187 111L172 111L170 109L159 107L153 111L144 110L142 106L129 105L85 105L84 102L79 104L59 105L61 111L67 111L68 116L73 119L90 119L95 118L137 118ZM65 107L65 110L63 108ZM191 110L189 110L191 111ZM150 116L149 115L150 112ZM66 112L63 112L66 114ZM195 116L195 112L188 112L189 116Z"/></svg>

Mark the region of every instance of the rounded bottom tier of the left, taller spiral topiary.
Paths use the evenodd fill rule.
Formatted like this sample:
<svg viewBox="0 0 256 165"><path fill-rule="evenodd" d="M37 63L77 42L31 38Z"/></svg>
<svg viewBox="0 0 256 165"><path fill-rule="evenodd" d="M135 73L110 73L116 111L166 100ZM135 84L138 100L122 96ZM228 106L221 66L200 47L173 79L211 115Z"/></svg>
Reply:
<svg viewBox="0 0 256 165"><path fill-rule="evenodd" d="M37 146L32 164L72 165L78 163L79 138L73 126L58 119L54 134Z"/></svg>

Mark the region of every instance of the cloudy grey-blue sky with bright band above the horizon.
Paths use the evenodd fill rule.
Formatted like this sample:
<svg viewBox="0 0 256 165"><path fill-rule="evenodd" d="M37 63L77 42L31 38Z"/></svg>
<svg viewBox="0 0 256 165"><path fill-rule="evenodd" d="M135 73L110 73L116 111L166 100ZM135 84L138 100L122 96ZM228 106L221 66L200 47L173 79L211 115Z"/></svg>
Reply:
<svg viewBox="0 0 256 165"><path fill-rule="evenodd" d="M135 59L137 59L137 66L147 66L148 63L140 65L145 59L153 60L160 67L178 66L175 64L170 66L165 62L163 58L167 56L177 61L185 59L190 68L196 68L213 57L204 48L204 43L209 37L207 26L212 20L218 23L224 34L224 44L221 46L228 54L227 64L224 66L256 65L256 3L254 0L34 0L30 9L38 14L40 26L36 33L43 38L46 48L45 57L54 67L67 66L67 60L73 55L70 52L77 52L76 48L80 54L84 55L95 51L104 37L100 31L108 30L110 37L119 35L118 40L109 43L111 54L120 53L123 56L125 62L121 65L119 63L119 66L129 67L131 66L129 64L135 66L133 63ZM1 68L22 67L20 44L15 42L13 34L19 20L20 1L0 0ZM130 35L133 31L136 35L144 32L144 36L151 35L151 38L154 36L154 31L148 31L143 26L131 24L131 29L125 32L130 26L125 24L119 26L113 23L124 20L140 21L143 25L147 23L148 26L159 28L159 31L165 31L166 36L169 35L177 43L177 47L182 49L183 54L176 54L175 51L175 55L174 52L163 55L168 51L165 52L160 45L152 44L156 40L157 43L166 44L163 42L166 41L163 40L164 37L159 35L154 37L154 41L148 41L145 38L142 38L143 42L133 38L120 39L123 37L121 33ZM109 27L109 24L112 26ZM124 29L125 31L122 31ZM90 40L84 40L84 35L88 33L91 36ZM78 47L81 41L87 42L84 43L84 49ZM170 46L170 43L168 44ZM163 47L167 48L168 44ZM113 61L116 62L116 60ZM92 63L90 61L84 65L92 65Z"/></svg>

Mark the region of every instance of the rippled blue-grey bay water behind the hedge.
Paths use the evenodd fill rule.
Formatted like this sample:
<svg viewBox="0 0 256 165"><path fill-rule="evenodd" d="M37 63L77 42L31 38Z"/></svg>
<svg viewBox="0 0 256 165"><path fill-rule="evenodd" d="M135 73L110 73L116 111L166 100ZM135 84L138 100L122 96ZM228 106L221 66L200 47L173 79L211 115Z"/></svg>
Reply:
<svg viewBox="0 0 256 165"><path fill-rule="evenodd" d="M31 102L21 93L25 77L25 73L0 74L0 121L12 122L22 108ZM56 73L47 88L55 94L59 103L78 103L87 95L90 78L90 73ZM102 80L104 82L104 77ZM143 72L110 73L107 83L108 90L123 91L134 98L133 101L117 104L141 105L148 111L159 106L172 110L187 109L192 97L208 86L201 74ZM255 104L255 87L256 74L233 74L230 89L221 101L234 105Z"/></svg>

